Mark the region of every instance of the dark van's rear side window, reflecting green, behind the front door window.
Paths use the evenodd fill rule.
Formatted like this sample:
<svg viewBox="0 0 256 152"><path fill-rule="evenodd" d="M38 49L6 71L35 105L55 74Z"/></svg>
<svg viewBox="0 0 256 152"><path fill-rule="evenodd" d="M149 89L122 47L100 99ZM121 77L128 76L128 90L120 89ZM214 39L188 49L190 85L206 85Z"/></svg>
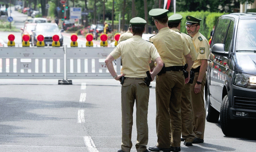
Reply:
<svg viewBox="0 0 256 152"><path fill-rule="evenodd" d="M219 19L217 26L214 30L211 46L213 46L215 43L224 44L229 24L230 24L230 19Z"/></svg>

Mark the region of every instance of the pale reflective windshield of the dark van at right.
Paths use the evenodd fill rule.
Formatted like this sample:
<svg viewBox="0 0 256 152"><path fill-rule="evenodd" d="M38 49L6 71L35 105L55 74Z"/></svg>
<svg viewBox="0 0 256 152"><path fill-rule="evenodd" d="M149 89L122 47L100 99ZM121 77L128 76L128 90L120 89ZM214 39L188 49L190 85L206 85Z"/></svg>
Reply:
<svg viewBox="0 0 256 152"><path fill-rule="evenodd" d="M236 51L256 50L256 20L240 20L236 35Z"/></svg>

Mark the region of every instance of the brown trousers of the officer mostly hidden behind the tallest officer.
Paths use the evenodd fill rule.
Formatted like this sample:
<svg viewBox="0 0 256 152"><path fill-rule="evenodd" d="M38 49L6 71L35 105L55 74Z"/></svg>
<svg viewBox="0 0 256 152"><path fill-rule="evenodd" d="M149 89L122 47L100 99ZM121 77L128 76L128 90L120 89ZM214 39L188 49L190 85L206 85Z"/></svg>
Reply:
<svg viewBox="0 0 256 152"><path fill-rule="evenodd" d="M193 132L193 113L191 107L191 92L190 92L191 84L187 83L184 85L181 94L181 124L182 124L182 138L185 139L186 142L192 143L195 139L195 133ZM171 138L171 131L170 131Z"/></svg>

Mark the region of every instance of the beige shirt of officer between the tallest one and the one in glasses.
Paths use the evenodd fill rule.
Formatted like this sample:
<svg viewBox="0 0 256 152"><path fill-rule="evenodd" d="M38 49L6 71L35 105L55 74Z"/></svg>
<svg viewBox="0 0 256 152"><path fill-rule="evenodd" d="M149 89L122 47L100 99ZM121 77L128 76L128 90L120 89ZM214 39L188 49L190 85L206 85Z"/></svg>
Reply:
<svg viewBox="0 0 256 152"><path fill-rule="evenodd" d="M173 28L171 30L180 32L177 28ZM192 57L192 61L197 60L198 52L195 51L195 46L194 46L195 44L193 43L192 37L189 36L188 34L185 34L185 33L181 33L181 34L184 37L184 40L185 40L186 44L189 47L190 55ZM185 64L186 64L186 60L185 60L185 58L183 58L183 65L185 65Z"/></svg>

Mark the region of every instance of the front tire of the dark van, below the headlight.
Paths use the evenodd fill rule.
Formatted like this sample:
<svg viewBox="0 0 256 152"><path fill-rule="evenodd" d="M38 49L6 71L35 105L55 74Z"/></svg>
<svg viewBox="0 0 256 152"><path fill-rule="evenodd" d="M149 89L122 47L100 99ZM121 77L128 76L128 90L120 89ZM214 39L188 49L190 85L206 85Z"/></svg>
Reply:
<svg viewBox="0 0 256 152"><path fill-rule="evenodd" d="M234 133L234 121L230 119L228 95L224 96L220 109L220 124L224 135L231 136Z"/></svg>

